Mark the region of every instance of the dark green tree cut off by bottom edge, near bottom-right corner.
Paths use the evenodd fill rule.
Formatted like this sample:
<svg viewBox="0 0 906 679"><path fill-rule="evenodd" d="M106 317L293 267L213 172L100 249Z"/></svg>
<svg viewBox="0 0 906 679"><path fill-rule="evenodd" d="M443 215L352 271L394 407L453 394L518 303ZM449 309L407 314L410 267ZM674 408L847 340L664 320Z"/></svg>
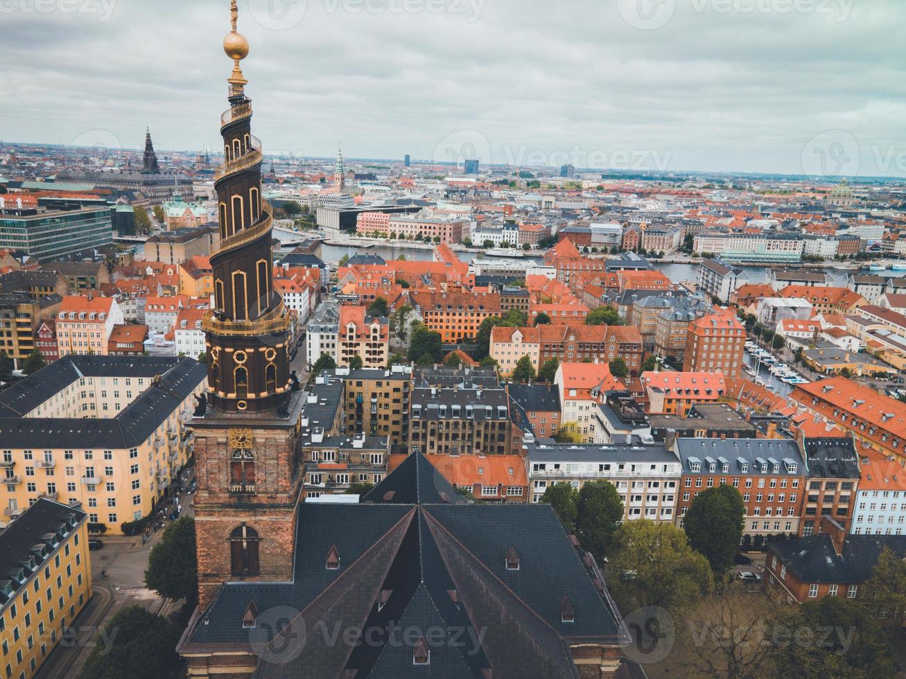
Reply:
<svg viewBox="0 0 906 679"><path fill-rule="evenodd" d="M805 603L795 609L789 627L807 629L811 643L802 643L798 633L799 643L786 645L778 654L777 676L871 679L897 674L891 646L880 622L872 617L872 608L852 599L824 597Z"/></svg>

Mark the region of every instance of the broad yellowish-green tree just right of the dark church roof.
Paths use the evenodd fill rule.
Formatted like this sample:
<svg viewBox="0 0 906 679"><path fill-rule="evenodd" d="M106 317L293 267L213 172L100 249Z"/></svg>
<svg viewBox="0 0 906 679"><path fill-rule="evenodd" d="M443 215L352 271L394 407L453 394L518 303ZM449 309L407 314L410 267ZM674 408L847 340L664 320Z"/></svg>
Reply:
<svg viewBox="0 0 906 679"><path fill-rule="evenodd" d="M708 559L670 523L626 521L613 534L609 555L617 576L610 585L623 610L660 606L673 612L696 603L714 585ZM620 578L630 572L633 578Z"/></svg>

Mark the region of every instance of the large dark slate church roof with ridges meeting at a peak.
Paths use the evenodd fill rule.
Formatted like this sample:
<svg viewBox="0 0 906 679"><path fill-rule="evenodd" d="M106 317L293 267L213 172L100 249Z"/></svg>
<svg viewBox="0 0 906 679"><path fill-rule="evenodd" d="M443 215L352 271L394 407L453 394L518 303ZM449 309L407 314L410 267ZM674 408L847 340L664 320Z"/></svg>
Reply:
<svg viewBox="0 0 906 679"><path fill-rule="evenodd" d="M550 506L466 502L421 454L359 504L303 503L296 535L294 581L227 582L181 652L254 650L242 626L253 603L259 616L278 606L298 611L273 646L304 643L274 662L259 655L258 679L351 671L357 679L483 679L487 669L577 679L570 643L627 641L600 571L583 562ZM337 569L326 568L332 550ZM517 569L507 567L512 554ZM567 598L573 622L562 621ZM389 636L394 627L400 643ZM372 642L332 640L333 630L347 628L371 630ZM413 638L402 634L408 628L417 630ZM429 665L413 665L419 634L431 635Z"/></svg>

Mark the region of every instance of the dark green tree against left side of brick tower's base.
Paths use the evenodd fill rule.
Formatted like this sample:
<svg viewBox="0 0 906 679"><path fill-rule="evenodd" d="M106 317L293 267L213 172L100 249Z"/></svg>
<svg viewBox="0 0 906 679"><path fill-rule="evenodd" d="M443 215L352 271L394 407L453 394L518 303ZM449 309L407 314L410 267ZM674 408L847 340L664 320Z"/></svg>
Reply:
<svg viewBox="0 0 906 679"><path fill-rule="evenodd" d="M195 601L198 597L198 562L195 556L195 520L173 521L151 549L145 584L161 597Z"/></svg>

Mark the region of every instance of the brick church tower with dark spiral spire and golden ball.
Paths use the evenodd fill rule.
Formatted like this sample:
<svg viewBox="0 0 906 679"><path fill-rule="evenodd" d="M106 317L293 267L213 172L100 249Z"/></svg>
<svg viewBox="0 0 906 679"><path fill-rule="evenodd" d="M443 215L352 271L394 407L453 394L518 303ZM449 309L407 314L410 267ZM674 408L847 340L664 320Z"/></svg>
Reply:
<svg viewBox="0 0 906 679"><path fill-rule="evenodd" d="M204 320L207 402L195 435L198 602L227 580L292 579L295 516L303 496L301 392L289 374L289 315L273 289L271 206L261 196L261 142L239 61L246 38L224 40L234 61L221 117L225 160L215 174L220 250L211 256L215 308Z"/></svg>

